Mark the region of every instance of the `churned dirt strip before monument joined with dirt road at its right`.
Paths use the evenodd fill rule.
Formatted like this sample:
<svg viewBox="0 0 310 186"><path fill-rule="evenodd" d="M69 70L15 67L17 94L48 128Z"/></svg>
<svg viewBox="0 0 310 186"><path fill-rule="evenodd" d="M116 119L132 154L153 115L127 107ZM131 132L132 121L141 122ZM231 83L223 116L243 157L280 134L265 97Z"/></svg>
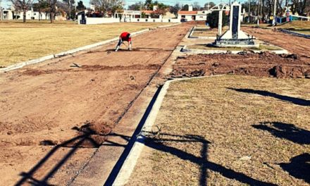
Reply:
<svg viewBox="0 0 310 186"><path fill-rule="evenodd" d="M282 32L242 27L266 43L287 49L292 55L251 51L233 54L190 55L178 58L173 77L217 74L239 74L272 77L310 77L310 40Z"/></svg>

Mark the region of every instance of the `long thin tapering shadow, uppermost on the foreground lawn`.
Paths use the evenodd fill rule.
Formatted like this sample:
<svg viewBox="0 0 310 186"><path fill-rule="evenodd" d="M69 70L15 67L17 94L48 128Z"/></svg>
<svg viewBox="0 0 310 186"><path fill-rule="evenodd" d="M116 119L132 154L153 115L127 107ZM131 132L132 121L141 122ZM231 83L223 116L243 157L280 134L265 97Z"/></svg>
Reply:
<svg viewBox="0 0 310 186"><path fill-rule="evenodd" d="M280 94L275 94L273 92L268 92L265 90L256 90L256 89L237 89L237 88L232 88L228 87L227 89L233 89L237 92L244 92L244 93L249 93L249 94L259 94L264 97L274 97L276 99L280 99L283 101L288 101L292 104L297 104L300 106L310 106L310 101L302 98L296 98L296 97L288 97L288 96L283 96Z"/></svg>

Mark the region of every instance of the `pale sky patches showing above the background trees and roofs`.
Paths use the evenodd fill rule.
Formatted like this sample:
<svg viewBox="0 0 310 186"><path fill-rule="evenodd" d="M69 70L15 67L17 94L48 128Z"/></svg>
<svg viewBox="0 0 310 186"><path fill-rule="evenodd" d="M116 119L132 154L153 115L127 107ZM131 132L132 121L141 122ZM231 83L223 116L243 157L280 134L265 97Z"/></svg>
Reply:
<svg viewBox="0 0 310 186"><path fill-rule="evenodd" d="M61 0L59 0L61 1ZM75 0L75 1L80 1L80 0ZM89 0L82 0L83 4L86 7L89 7ZM145 1L145 0L144 0ZM153 0L155 1L155 0ZM158 0L159 2L163 3L163 4L168 4L168 5L174 5L177 2L180 4L193 4L194 2L198 2L200 6L204 6L204 4L206 4L208 1L204 1L204 0ZM244 0L242 0L241 2L243 2ZM125 8L128 7L128 5L130 4L135 4L137 2L140 2L139 0L125 0ZM224 3L228 3L229 0L214 0L213 3L218 4L219 2L224 2ZM232 0L233 2L233 0ZM8 8L11 6L11 3L8 0L2 0L2 6L4 6L5 8Z"/></svg>

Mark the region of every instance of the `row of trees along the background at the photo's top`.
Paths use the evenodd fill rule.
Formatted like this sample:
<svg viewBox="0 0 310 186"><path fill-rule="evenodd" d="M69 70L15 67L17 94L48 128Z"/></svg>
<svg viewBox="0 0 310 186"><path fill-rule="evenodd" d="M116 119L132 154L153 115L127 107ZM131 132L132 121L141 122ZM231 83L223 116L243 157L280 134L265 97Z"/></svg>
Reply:
<svg viewBox="0 0 310 186"><path fill-rule="evenodd" d="M51 23L54 22L54 18L57 15L68 16L68 19L75 18L75 11L85 10L86 7L82 1L75 4L75 0L10 0L14 7L14 12L23 12L23 22L26 20L26 13L30 8L34 11L38 11L41 15L49 16ZM273 4L277 1L277 15L283 14L285 6L291 6L292 13L299 13L302 16L309 16L310 14L310 0L249 0L250 1L250 13L255 16L271 16L273 14ZM106 15L107 12L115 13L116 11L122 11L124 8L123 0L91 0L90 4L94 5L95 10ZM198 2L192 4L193 11L208 10L215 6L213 2L200 6ZM188 4L181 5L177 3L173 6L163 4L159 1L145 0L128 6L132 11L150 11L153 7L157 6L155 12L156 15L165 15L166 12L170 12L178 16L178 11L188 11ZM242 8L248 12L249 3L242 4Z"/></svg>

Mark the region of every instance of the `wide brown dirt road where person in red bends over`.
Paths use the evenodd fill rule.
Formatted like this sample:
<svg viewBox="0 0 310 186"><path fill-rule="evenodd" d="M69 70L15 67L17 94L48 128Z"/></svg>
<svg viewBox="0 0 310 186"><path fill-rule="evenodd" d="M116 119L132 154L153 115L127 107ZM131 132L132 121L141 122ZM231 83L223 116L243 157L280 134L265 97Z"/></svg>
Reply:
<svg viewBox="0 0 310 186"><path fill-rule="evenodd" d="M134 51L111 44L1 73L0 185L66 185L189 28L133 37Z"/></svg>

